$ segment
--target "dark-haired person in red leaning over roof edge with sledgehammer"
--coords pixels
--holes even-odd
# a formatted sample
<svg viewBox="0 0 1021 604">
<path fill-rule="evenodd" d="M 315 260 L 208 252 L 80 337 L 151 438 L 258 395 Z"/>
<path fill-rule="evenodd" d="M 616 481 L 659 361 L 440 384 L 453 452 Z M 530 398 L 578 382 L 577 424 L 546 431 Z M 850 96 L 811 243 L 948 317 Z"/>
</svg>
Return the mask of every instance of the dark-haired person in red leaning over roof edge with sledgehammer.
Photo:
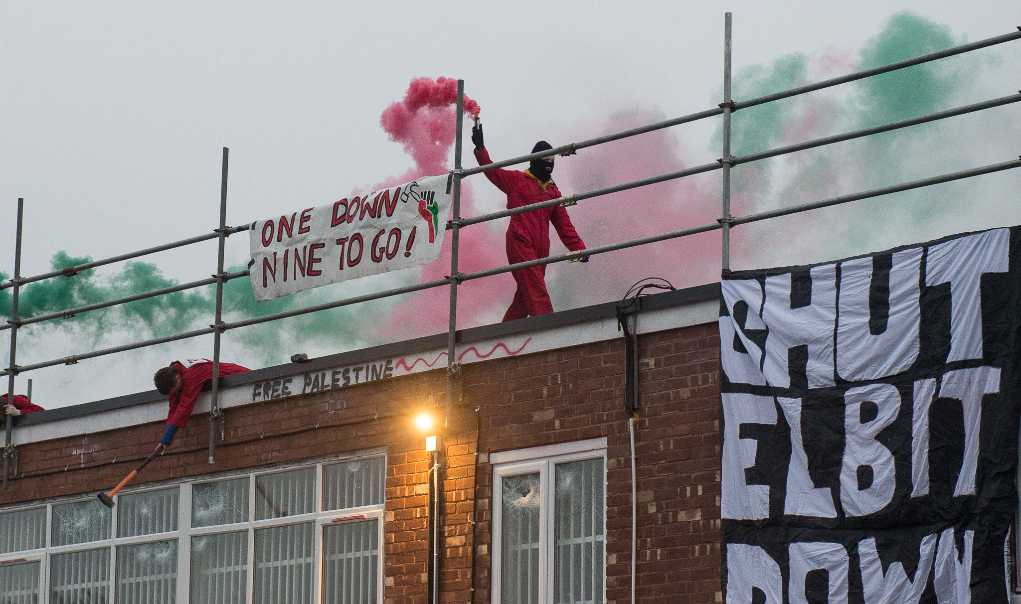
<svg viewBox="0 0 1021 604">
<path fill-rule="evenodd" d="M 220 374 L 230 375 L 250 371 L 247 367 L 234 363 L 220 363 Z M 188 425 L 192 409 L 198 395 L 212 382 L 212 361 L 209 359 L 186 359 L 174 361 L 165 367 L 160 367 L 152 376 L 159 394 L 167 396 L 169 410 L 166 413 L 166 431 L 159 440 L 157 450 L 171 446 L 178 430 Z"/>
</svg>

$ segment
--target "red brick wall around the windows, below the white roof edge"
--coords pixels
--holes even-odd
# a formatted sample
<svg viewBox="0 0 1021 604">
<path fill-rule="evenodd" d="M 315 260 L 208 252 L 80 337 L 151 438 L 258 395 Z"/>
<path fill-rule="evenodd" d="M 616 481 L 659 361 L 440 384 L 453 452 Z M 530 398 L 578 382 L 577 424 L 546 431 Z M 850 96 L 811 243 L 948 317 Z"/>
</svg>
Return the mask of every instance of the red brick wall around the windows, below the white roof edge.
<svg viewBox="0 0 1021 604">
<path fill-rule="evenodd" d="M 640 355 L 638 601 L 719 602 L 717 328 L 643 336 Z M 384 599 L 422 604 L 430 458 L 411 418 L 429 395 L 442 410 L 444 376 L 441 369 L 227 409 L 228 438 L 215 465 L 207 463 L 207 415 L 196 415 L 138 482 L 386 447 Z M 441 601 L 489 601 L 489 454 L 601 436 L 609 443 L 606 598 L 629 601 L 631 466 L 623 391 L 620 340 L 464 367 L 463 398 L 441 457 Z M 26 475 L 0 492 L 0 505 L 109 489 L 161 434 L 160 424 L 150 423 L 23 445 L 19 472 Z"/>
</svg>

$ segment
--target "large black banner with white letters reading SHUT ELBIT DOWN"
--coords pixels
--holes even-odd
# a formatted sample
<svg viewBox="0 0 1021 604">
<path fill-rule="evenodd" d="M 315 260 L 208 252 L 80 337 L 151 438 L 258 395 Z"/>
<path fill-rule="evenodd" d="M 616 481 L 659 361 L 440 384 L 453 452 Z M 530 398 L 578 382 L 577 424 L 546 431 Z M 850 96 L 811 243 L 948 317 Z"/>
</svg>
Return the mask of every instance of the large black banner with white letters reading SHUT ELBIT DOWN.
<svg viewBox="0 0 1021 604">
<path fill-rule="evenodd" d="M 722 290 L 725 601 L 1006 603 L 1021 228 Z"/>
</svg>

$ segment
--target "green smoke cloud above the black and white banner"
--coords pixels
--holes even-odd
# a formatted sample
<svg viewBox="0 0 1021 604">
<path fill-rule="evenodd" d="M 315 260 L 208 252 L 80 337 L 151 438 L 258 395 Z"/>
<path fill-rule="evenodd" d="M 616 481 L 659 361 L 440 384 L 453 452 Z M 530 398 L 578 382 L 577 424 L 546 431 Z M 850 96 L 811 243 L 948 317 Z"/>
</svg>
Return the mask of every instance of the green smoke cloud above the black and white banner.
<svg viewBox="0 0 1021 604">
<path fill-rule="evenodd" d="M 963 43 L 946 26 L 904 11 L 892 15 L 857 56 L 828 64 L 848 64 L 854 65 L 849 70 L 862 70 Z M 988 97 L 976 98 L 973 91 L 983 68 L 995 61 L 989 54 L 996 52 L 1001 51 L 957 55 L 742 109 L 732 119 L 732 152 L 753 153 L 984 100 Z M 743 68 L 734 78 L 733 96 L 744 100 L 803 85 L 810 72 L 816 81 L 848 70 L 826 72 L 826 64 L 817 62 L 816 57 L 791 54 Z M 821 73 L 817 76 L 817 71 Z M 970 124 L 964 125 L 968 119 L 981 117 L 950 118 L 738 165 L 732 178 L 734 213 L 786 207 L 985 163 L 972 159 L 975 153 L 960 147 L 975 138 L 967 131 Z M 1007 131 L 1011 123 L 1016 122 L 1008 119 L 1004 123 Z M 718 129 L 715 145 L 721 136 Z M 995 160 L 1004 159 L 1009 157 Z M 738 253 L 743 258 L 737 266 L 821 261 L 874 251 L 953 233 L 955 229 L 947 225 L 955 221 L 962 222 L 959 231 L 966 231 L 957 218 L 968 214 L 968 205 L 977 199 L 975 188 L 980 186 L 980 180 L 967 180 L 739 229 Z M 790 233 L 800 236 L 783 235 Z"/>
</svg>

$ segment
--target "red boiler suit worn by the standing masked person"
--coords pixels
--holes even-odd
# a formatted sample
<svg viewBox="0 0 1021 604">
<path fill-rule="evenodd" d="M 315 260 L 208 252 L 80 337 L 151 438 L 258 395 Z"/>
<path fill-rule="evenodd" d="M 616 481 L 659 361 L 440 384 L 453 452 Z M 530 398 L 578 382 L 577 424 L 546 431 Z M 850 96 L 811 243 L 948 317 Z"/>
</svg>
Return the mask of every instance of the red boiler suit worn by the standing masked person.
<svg viewBox="0 0 1021 604">
<path fill-rule="evenodd" d="M 492 163 L 489 152 L 485 149 L 476 150 L 475 158 L 479 161 L 479 165 Z M 555 183 L 551 180 L 539 183 L 538 179 L 528 171 L 497 168 L 485 174 L 490 183 L 506 194 L 507 209 L 562 197 Z M 557 205 L 510 216 L 506 235 L 507 260 L 515 264 L 548 256 L 550 222 L 569 250 L 575 252 L 585 249 L 585 242 L 575 232 L 568 211 Z M 513 270 L 510 273 L 518 284 L 518 291 L 515 292 L 514 301 L 503 315 L 503 320 L 548 314 L 553 311 L 553 304 L 546 292 L 545 264 Z"/>
</svg>

